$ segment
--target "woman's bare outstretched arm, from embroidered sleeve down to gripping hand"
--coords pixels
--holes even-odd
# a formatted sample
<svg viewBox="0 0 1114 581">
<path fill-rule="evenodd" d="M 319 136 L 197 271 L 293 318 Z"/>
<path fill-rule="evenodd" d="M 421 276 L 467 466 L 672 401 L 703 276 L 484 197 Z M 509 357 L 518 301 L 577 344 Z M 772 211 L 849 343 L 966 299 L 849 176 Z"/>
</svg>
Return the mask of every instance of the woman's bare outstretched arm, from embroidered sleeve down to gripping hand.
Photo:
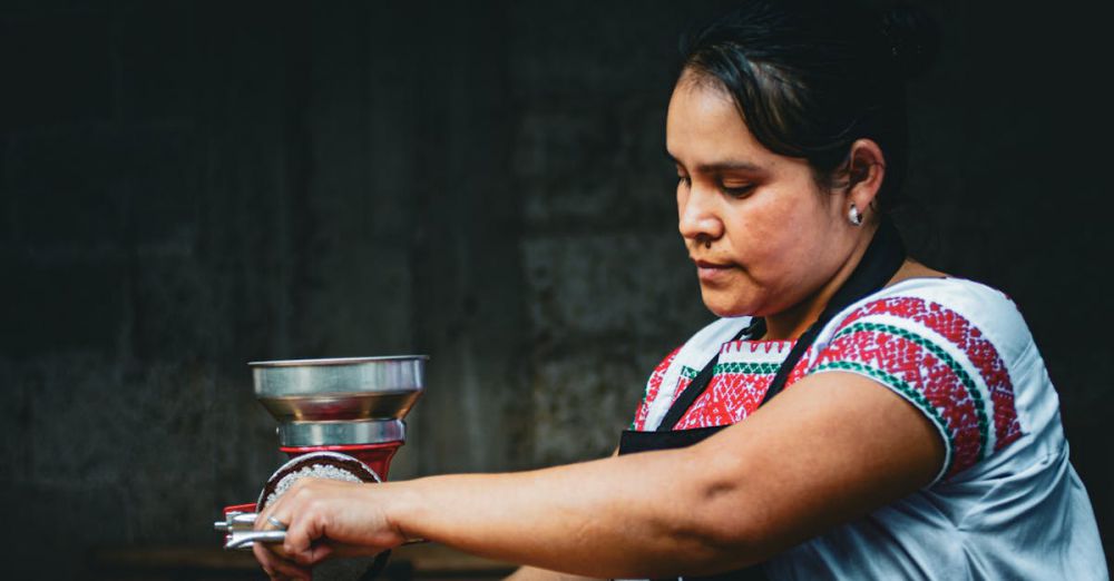
<svg viewBox="0 0 1114 581">
<path fill-rule="evenodd" d="M 322 536 L 379 548 L 420 536 L 592 577 L 702 574 L 907 495 L 942 459 L 911 405 L 864 377 L 825 373 L 687 450 L 378 485 L 309 481 L 273 511 L 291 523 L 284 550 L 302 563 L 330 553 L 314 549 Z"/>
</svg>

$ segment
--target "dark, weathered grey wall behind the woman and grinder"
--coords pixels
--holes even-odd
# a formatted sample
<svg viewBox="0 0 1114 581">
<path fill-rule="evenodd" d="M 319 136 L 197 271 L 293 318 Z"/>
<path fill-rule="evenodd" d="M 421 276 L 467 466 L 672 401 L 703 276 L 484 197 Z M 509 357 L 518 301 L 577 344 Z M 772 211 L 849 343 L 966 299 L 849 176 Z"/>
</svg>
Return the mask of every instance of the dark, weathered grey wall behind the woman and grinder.
<svg viewBox="0 0 1114 581">
<path fill-rule="evenodd" d="M 247 361 L 429 353 L 392 477 L 610 451 L 711 318 L 664 109 L 729 4 L 0 2 L 6 567 L 218 543 L 281 461 Z M 1110 538 L 1104 20 L 925 6 L 900 223 L 1020 306 Z"/>
</svg>

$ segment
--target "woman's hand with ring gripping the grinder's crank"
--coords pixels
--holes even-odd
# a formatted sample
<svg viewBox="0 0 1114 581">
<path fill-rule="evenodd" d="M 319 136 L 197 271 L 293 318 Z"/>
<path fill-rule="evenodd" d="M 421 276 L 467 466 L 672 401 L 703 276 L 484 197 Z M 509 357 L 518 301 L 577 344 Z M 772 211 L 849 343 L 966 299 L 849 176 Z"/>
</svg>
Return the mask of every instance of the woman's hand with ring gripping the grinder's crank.
<svg viewBox="0 0 1114 581">
<path fill-rule="evenodd" d="M 273 579 L 310 579 L 310 568 L 330 557 L 371 555 L 405 536 L 387 519 L 383 484 L 305 477 L 260 513 L 256 530 L 286 524 L 282 544 L 255 543 L 253 552 Z"/>
</svg>

